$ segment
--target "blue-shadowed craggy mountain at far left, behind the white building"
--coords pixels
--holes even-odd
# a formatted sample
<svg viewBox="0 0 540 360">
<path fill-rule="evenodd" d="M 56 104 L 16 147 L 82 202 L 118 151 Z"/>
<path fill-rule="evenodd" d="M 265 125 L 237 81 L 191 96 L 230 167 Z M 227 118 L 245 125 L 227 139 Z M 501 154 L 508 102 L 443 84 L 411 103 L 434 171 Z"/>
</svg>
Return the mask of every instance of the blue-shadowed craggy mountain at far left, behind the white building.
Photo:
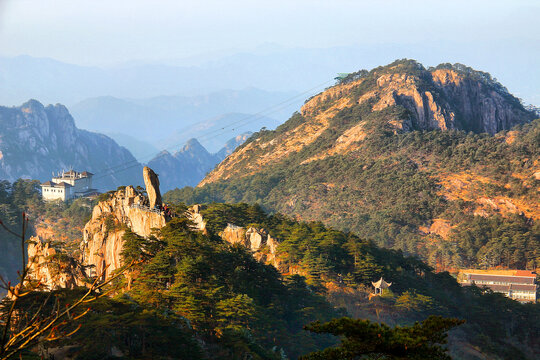
<svg viewBox="0 0 540 360">
<path fill-rule="evenodd" d="M 119 165 L 129 164 L 122 171 Z M 110 190 L 142 184 L 131 153 L 111 138 L 80 130 L 63 105 L 30 100 L 19 107 L 0 106 L 0 178 L 50 180 L 52 172 L 70 167 L 96 174 L 93 186 Z"/>
</svg>

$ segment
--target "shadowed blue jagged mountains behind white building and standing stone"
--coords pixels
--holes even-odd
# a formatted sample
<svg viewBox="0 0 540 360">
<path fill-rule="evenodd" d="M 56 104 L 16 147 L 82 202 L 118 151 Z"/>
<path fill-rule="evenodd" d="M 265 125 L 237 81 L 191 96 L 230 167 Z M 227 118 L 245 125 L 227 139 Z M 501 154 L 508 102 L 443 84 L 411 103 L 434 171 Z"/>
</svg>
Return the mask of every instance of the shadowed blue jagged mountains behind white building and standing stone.
<svg viewBox="0 0 540 360">
<path fill-rule="evenodd" d="M 247 132 L 229 139 L 213 154 L 191 139 L 174 155 L 162 151 L 148 165 L 161 175 L 164 190 L 195 186 L 250 135 Z M 158 152 L 135 138 L 114 137 L 144 148 L 146 155 Z M 93 186 L 100 191 L 142 184 L 142 165 L 129 150 L 108 136 L 78 129 L 65 106 L 43 106 L 30 100 L 18 107 L 0 107 L 0 180 L 43 182 L 50 180 L 53 172 L 70 168 L 94 173 Z"/>
</svg>

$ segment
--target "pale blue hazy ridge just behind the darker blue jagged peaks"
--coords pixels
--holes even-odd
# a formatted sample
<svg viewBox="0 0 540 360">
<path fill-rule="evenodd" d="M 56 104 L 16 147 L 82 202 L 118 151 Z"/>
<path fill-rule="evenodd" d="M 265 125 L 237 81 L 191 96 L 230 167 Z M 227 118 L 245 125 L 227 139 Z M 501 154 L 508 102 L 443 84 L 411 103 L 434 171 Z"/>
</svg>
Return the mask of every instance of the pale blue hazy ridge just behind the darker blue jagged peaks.
<svg viewBox="0 0 540 360">
<path fill-rule="evenodd" d="M 258 131 L 261 127 L 274 128 L 285 121 L 300 106 L 303 97 L 294 92 L 270 92 L 249 88 L 240 91 L 224 90 L 201 96 L 159 96 L 146 99 L 120 99 L 111 96 L 86 99 L 70 107 L 77 126 L 91 131 L 125 134 L 145 141 L 159 149 L 178 145 L 191 137 L 199 138 L 207 130 L 225 128 L 222 142 L 205 143 L 217 151 L 231 137 L 245 131 Z M 282 105 L 285 103 L 286 106 Z M 279 105 L 279 106 L 275 106 Z M 239 132 L 229 126 L 240 117 L 249 117 L 262 110 L 268 116 L 244 121 Z M 239 114 L 229 116 L 226 114 Z M 278 119 L 278 120 L 274 120 Z M 279 120 L 281 119 L 281 121 Z M 255 120 L 255 121 L 254 121 Z M 233 124 L 234 125 L 234 124 Z M 174 142 L 161 143 L 173 132 Z M 166 145 L 166 146 L 165 146 Z"/>
</svg>

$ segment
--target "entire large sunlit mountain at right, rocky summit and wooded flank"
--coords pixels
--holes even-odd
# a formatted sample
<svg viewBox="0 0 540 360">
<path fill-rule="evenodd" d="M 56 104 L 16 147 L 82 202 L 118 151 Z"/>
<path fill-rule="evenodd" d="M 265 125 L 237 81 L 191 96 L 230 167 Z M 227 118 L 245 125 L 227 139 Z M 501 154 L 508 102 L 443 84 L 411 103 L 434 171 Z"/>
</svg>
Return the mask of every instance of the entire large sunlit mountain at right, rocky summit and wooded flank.
<svg viewBox="0 0 540 360">
<path fill-rule="evenodd" d="M 185 203 L 259 203 L 438 269 L 540 264 L 540 120 L 489 74 L 397 61 L 252 136 Z"/>
</svg>

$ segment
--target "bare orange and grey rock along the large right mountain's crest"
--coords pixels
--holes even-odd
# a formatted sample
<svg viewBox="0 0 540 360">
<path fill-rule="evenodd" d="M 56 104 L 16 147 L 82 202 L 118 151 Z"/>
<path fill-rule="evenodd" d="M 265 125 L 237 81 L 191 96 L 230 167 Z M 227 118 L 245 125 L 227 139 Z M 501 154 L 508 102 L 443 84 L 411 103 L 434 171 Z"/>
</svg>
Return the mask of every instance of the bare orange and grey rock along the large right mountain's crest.
<svg viewBox="0 0 540 360">
<path fill-rule="evenodd" d="M 476 76 L 478 79 L 472 78 L 472 76 Z M 445 98 L 462 97 L 466 99 L 465 92 L 457 96 L 454 94 L 460 84 L 470 87 L 466 93 L 475 95 L 476 103 L 463 100 L 462 106 L 453 109 Z M 484 106 L 482 101 L 491 100 L 490 97 L 485 96 L 486 92 L 489 92 L 495 100 Z M 480 115 L 487 116 L 486 119 L 478 118 L 479 114 L 477 113 L 471 113 L 476 108 L 475 105 L 485 108 L 485 112 L 480 111 Z M 433 129 L 478 131 L 482 129 L 494 134 L 534 118 L 531 112 L 526 111 L 519 104 L 518 99 L 510 95 L 487 73 L 473 71 L 460 64 L 456 65 L 456 69 L 453 69 L 449 64 L 442 64 L 439 65 L 439 68 L 426 70 L 413 60 L 400 60 L 386 67 L 375 68 L 370 72 L 362 70 L 350 74 L 337 85 L 313 96 L 302 106 L 300 114 L 291 118 L 293 121 L 300 122 L 298 127 L 291 129 L 288 133 L 286 132 L 287 127 L 283 126 L 282 130 L 285 131 L 275 132 L 274 134 L 278 134 L 278 137 L 270 138 L 270 141 L 263 144 L 254 143 L 254 141 L 260 141 L 261 136 L 254 137 L 253 141 L 241 147 L 233 157 L 228 159 L 228 162 L 221 164 L 209 174 L 200 183 L 200 186 L 216 181 L 222 176 L 226 179 L 233 174 L 240 176 L 248 174 L 249 172 L 245 172 L 244 169 L 240 172 L 232 172 L 229 163 L 246 161 L 246 159 L 234 160 L 234 158 L 240 158 L 242 152 L 249 152 L 250 149 L 273 148 L 271 155 L 266 150 L 265 155 L 261 158 L 251 158 L 248 161 L 250 167 L 254 167 L 253 162 L 258 163 L 258 168 L 274 162 L 273 159 L 279 160 L 281 157 L 298 152 L 330 128 L 330 118 L 346 109 L 351 110 L 348 116 L 354 117 L 358 116 L 357 113 L 363 112 L 369 115 L 372 112 L 390 111 L 397 108 L 405 109 L 407 113 L 389 114 L 392 119 L 388 120 L 388 124 L 395 132 Z M 514 114 L 514 110 L 518 113 Z M 352 111 L 356 111 L 356 113 L 352 113 Z M 469 115 L 472 115 L 473 118 L 476 116 L 477 122 L 467 123 L 464 118 Z M 352 121 L 354 123 L 354 120 Z M 364 126 L 359 122 L 356 127 L 349 127 L 349 133 L 344 132 L 342 137 L 336 139 L 334 150 L 338 153 L 348 152 L 348 145 L 362 141 L 365 134 Z M 271 134 L 268 133 L 266 137 L 268 138 Z M 225 173 L 226 175 L 224 175 Z"/>
</svg>

